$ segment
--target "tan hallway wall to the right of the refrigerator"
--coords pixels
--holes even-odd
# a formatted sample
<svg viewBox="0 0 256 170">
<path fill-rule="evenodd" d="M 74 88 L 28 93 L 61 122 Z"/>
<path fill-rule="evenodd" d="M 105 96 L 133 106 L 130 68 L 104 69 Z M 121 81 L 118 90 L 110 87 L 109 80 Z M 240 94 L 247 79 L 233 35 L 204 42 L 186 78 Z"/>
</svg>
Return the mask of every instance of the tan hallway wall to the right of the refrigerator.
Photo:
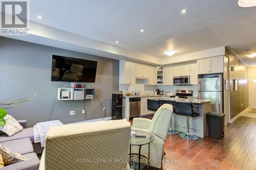
<svg viewBox="0 0 256 170">
<path fill-rule="evenodd" d="M 229 58 L 230 119 L 232 119 L 249 107 L 248 69 L 235 55 L 227 50 L 227 48 L 225 53 Z M 234 67 L 234 71 L 231 71 L 231 66 Z M 234 79 L 239 80 L 238 91 L 234 91 Z"/>
</svg>

